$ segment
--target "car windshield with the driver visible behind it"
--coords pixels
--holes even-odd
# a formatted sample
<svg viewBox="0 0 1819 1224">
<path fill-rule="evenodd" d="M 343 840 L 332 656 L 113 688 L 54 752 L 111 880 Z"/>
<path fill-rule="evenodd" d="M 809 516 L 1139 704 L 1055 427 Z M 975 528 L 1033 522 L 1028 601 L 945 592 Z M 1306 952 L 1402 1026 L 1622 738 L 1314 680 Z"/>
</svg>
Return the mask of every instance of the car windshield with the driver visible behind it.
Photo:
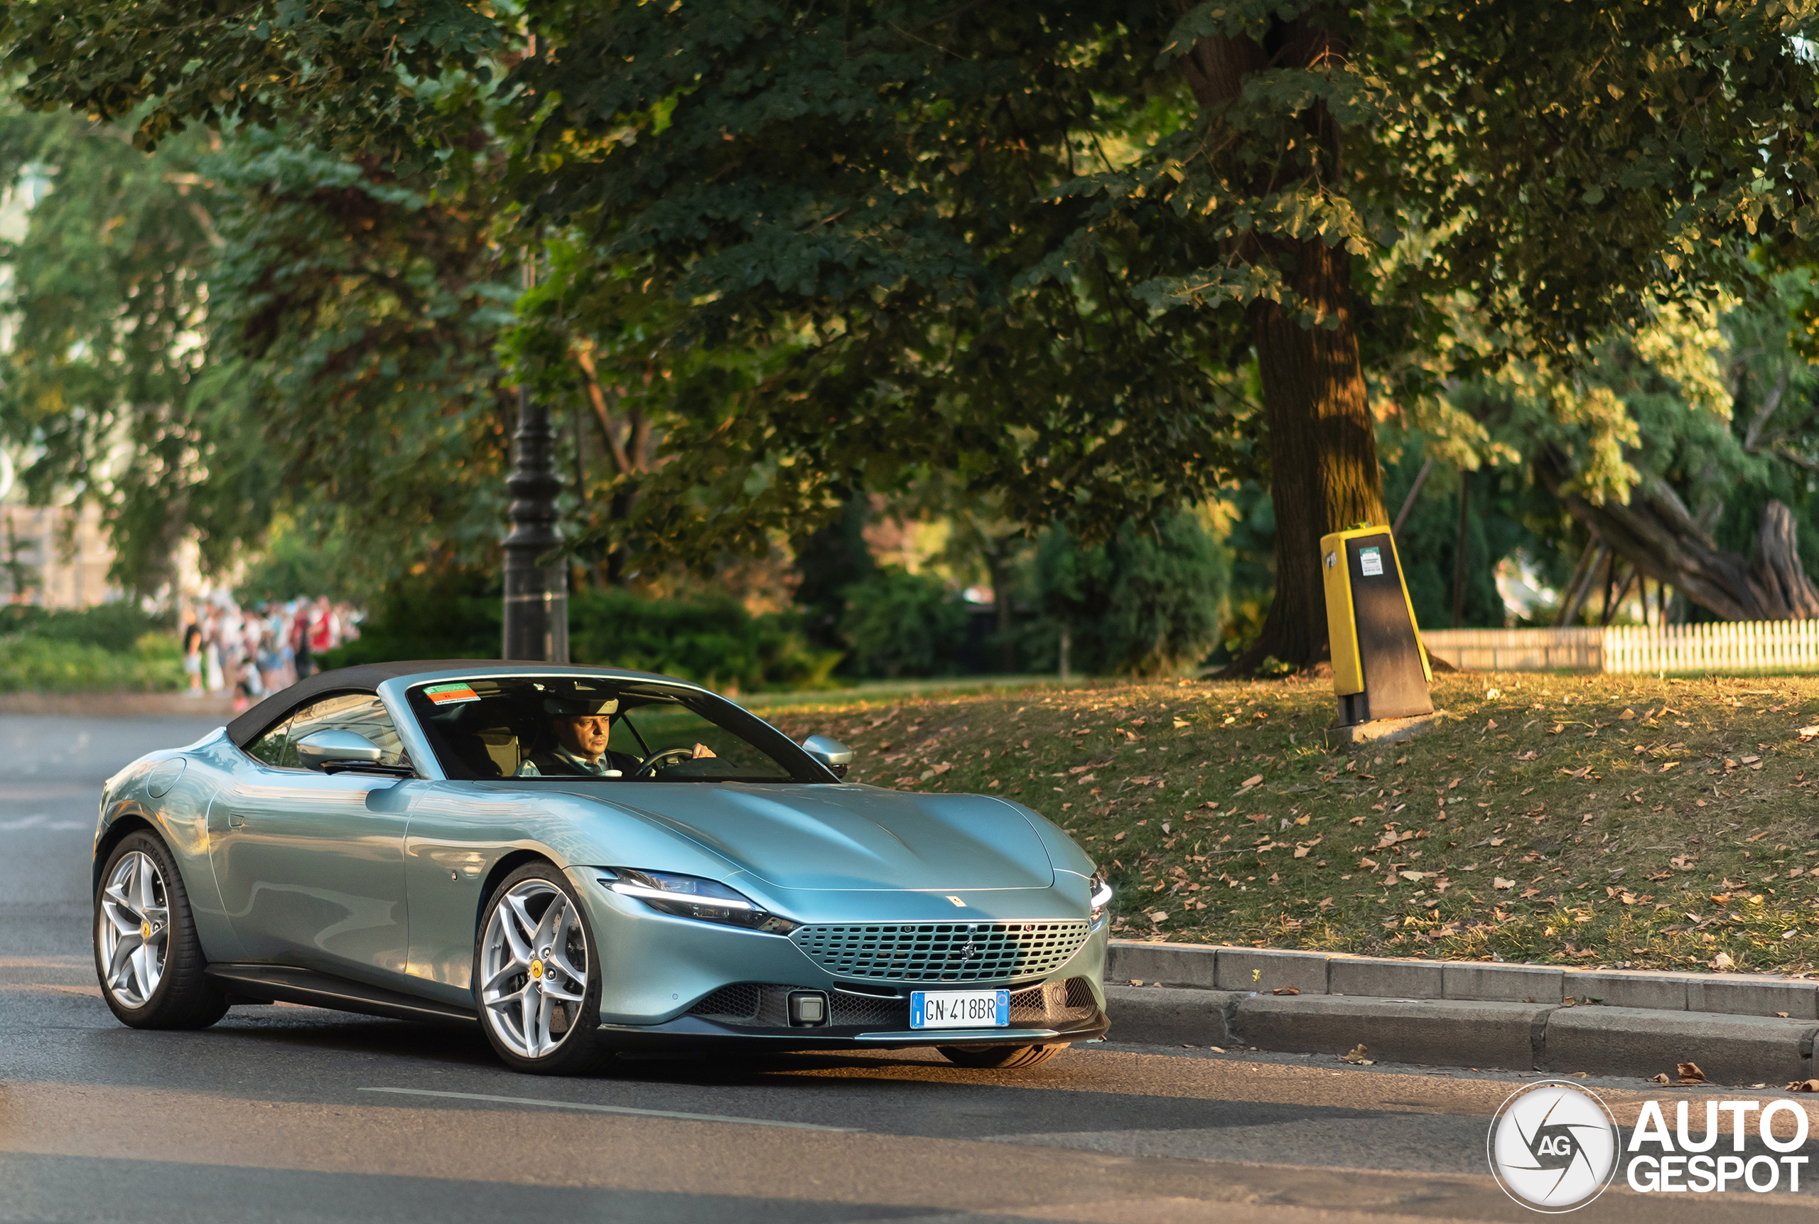
<svg viewBox="0 0 1819 1224">
<path fill-rule="evenodd" d="M 611 677 L 487 677 L 409 689 L 451 778 L 826 782 L 780 731 L 695 689 Z"/>
</svg>

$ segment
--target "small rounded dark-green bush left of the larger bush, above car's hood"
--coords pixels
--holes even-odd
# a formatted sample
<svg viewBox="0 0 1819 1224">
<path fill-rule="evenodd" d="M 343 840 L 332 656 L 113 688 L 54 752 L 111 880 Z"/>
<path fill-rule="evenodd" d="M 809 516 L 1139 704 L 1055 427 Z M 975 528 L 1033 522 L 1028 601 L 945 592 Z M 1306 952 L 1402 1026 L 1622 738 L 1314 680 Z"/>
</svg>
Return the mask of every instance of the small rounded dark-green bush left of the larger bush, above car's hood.
<svg viewBox="0 0 1819 1224">
<path fill-rule="evenodd" d="M 960 669 L 968 613 L 940 578 L 895 566 L 842 593 L 840 637 L 849 671 L 862 677 L 933 677 Z"/>
</svg>

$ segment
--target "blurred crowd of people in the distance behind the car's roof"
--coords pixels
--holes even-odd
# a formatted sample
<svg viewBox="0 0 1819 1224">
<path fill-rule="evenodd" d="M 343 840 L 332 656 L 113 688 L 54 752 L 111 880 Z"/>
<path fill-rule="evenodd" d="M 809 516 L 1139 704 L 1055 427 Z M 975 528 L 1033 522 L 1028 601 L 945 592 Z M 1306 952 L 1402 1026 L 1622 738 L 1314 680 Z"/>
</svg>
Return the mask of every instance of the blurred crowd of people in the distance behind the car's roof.
<svg viewBox="0 0 1819 1224">
<path fill-rule="evenodd" d="M 189 695 L 233 693 L 235 713 L 320 669 L 322 655 L 360 637 L 360 615 L 326 595 L 242 609 L 216 593 L 182 613 Z"/>
</svg>

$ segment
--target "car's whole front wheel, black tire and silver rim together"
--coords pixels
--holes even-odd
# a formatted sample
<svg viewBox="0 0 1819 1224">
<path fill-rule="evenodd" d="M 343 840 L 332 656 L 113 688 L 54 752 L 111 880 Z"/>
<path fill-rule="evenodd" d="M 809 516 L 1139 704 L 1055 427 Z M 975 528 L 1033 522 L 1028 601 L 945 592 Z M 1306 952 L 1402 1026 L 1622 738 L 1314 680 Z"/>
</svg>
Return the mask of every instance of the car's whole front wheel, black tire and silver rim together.
<svg viewBox="0 0 1819 1224">
<path fill-rule="evenodd" d="M 480 1028 L 529 1075 L 586 1075 L 609 1057 L 597 1037 L 600 957 L 568 877 L 548 862 L 493 889 L 473 949 Z"/>
</svg>

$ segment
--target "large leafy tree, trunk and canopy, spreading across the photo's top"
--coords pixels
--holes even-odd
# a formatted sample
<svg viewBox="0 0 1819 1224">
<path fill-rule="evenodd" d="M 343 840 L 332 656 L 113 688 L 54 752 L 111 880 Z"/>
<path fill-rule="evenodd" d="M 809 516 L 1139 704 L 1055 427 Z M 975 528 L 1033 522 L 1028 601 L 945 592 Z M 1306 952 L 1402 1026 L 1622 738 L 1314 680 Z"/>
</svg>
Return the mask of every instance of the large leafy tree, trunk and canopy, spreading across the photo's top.
<svg viewBox="0 0 1819 1224">
<path fill-rule="evenodd" d="M 322 207 L 318 175 L 384 196 L 397 251 L 435 215 L 431 246 L 478 262 L 449 256 L 466 271 L 395 318 L 478 320 L 506 295 L 464 286 L 540 251 L 502 331 L 509 376 L 598 416 L 602 549 L 759 547 L 933 471 L 1028 527 L 1108 538 L 1261 478 L 1277 586 L 1251 662 L 1301 664 L 1324 647 L 1319 535 L 1388 518 L 1379 418 L 1468 467 L 1539 464 L 1563 497 L 1623 504 L 1637 400 L 1599 415 L 1613 396 L 1586 371 L 1713 295 L 1764 300 L 1752 251 L 1806 258 L 1815 13 L 369 0 L 196 20 L 76 0 L 13 5 L 0 44 L 27 105 L 140 147 L 196 127 L 240 158 L 275 140 L 246 164 L 296 167 L 298 207 Z M 255 220 L 289 198 L 235 191 Z M 349 231 L 315 231 L 304 264 L 331 235 Z M 386 293 L 409 280 L 393 276 Z M 340 353 L 313 300 L 329 298 L 286 298 L 264 333 L 236 315 L 242 336 Z M 373 324 L 344 364 L 260 386 L 344 446 L 371 420 L 395 446 L 497 438 L 446 406 L 497 393 L 464 364 L 478 333 L 438 324 L 426 349 L 420 327 Z M 429 364 L 400 380 L 395 353 Z M 1481 393 L 1523 371 L 1548 391 Z M 444 396 L 457 424 L 397 409 L 400 389 Z M 1492 402 L 1550 427 L 1493 438 Z M 648 456 L 631 409 L 660 422 Z M 1588 420 L 1603 449 L 1557 444 Z"/>
</svg>

